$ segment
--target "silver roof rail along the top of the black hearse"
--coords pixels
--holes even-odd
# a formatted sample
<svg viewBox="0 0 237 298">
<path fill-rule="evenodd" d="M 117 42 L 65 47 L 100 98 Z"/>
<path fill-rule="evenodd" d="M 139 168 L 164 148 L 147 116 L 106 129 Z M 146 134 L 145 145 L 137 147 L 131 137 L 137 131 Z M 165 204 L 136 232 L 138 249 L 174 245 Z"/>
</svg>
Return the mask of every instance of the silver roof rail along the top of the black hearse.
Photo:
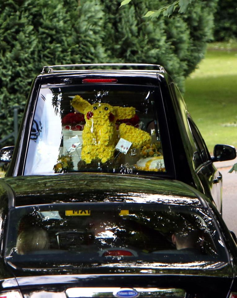
<svg viewBox="0 0 237 298">
<path fill-rule="evenodd" d="M 53 73 L 53 72 L 69 72 L 69 71 L 98 71 L 99 69 L 68 69 L 69 67 L 74 68 L 86 68 L 86 67 L 97 67 L 97 66 L 120 66 L 120 67 L 143 67 L 143 69 L 123 69 L 123 71 L 159 71 L 159 72 L 165 72 L 163 66 L 159 64 L 147 64 L 147 63 L 87 63 L 87 64 L 62 64 L 62 65 L 49 65 L 49 66 L 43 66 L 42 74 L 43 73 Z M 152 67 L 153 69 L 148 70 L 146 68 Z M 56 70 L 55 68 L 66 68 L 66 69 L 60 69 Z M 155 68 L 155 69 L 154 69 Z M 48 71 L 47 71 L 48 70 Z M 101 69 L 101 70 L 112 70 L 112 69 Z"/>
</svg>

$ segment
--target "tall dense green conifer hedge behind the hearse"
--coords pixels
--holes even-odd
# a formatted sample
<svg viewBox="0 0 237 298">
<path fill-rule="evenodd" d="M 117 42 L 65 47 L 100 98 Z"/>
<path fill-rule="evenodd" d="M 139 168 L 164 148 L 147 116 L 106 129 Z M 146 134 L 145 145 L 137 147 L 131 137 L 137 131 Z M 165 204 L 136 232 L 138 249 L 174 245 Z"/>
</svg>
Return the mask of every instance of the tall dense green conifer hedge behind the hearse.
<svg viewBox="0 0 237 298">
<path fill-rule="evenodd" d="M 196 0 L 186 14 L 144 18 L 164 0 L 2 0 L 0 2 L 0 139 L 13 131 L 43 65 L 137 62 L 162 64 L 183 89 L 212 38 L 217 0 Z M 0 113 L 1 114 L 1 113 Z M 9 141 L 12 144 L 13 140 Z"/>
</svg>

